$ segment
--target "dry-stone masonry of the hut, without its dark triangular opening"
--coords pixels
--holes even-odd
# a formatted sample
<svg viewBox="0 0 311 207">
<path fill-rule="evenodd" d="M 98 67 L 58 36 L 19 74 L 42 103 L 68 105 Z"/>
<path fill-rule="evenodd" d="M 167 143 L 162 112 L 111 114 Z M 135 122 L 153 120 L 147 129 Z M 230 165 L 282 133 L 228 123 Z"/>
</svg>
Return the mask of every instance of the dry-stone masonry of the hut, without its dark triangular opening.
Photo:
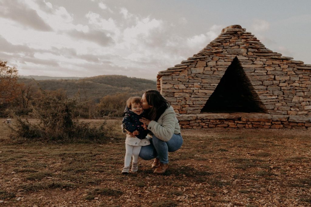
<svg viewBox="0 0 311 207">
<path fill-rule="evenodd" d="M 240 25 L 231 25 L 193 57 L 160 71 L 157 89 L 181 115 L 182 127 L 310 127 L 311 65 L 292 59 L 267 49 Z M 277 116 L 268 121 L 247 121 L 243 116 L 238 119 L 202 117 L 202 108 L 234 62 L 243 68 L 266 114 L 283 115 L 280 119 Z M 190 115 L 196 117 L 190 119 Z"/>
</svg>

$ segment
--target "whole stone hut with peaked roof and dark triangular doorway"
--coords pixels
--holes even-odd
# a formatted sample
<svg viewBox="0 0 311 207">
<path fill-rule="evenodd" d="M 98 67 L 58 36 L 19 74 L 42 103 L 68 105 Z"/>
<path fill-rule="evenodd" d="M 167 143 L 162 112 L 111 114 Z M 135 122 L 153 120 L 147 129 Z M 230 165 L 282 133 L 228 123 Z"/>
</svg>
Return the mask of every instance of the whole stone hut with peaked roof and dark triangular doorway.
<svg viewBox="0 0 311 207">
<path fill-rule="evenodd" d="M 240 25 L 160 71 L 182 128 L 311 128 L 311 65 L 267 49 Z"/>
</svg>

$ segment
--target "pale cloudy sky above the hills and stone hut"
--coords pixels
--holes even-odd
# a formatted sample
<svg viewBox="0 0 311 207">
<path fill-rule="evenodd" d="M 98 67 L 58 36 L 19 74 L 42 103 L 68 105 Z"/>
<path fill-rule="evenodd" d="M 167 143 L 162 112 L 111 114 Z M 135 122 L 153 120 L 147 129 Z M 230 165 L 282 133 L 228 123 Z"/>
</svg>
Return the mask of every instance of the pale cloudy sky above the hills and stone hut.
<svg viewBox="0 0 311 207">
<path fill-rule="evenodd" d="M 0 59 L 20 75 L 156 79 L 239 24 L 311 64 L 309 0 L 0 0 Z"/>
</svg>

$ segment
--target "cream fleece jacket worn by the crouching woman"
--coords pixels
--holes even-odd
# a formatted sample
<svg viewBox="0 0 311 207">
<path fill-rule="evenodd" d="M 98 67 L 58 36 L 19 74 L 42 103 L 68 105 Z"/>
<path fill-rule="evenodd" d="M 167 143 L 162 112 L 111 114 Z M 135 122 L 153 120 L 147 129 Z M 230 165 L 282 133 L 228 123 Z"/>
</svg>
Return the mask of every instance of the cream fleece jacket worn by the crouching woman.
<svg viewBox="0 0 311 207">
<path fill-rule="evenodd" d="M 164 142 L 169 141 L 173 134 L 180 134 L 180 126 L 173 107 L 167 108 L 158 121 L 151 121 L 148 129 Z"/>
</svg>

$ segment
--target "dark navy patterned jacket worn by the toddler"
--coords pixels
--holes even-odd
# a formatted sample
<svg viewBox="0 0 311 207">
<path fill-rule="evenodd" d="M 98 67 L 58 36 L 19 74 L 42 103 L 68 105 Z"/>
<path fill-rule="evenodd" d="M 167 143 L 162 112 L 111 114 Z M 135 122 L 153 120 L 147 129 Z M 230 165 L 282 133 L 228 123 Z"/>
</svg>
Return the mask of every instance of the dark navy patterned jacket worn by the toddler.
<svg viewBox="0 0 311 207">
<path fill-rule="evenodd" d="M 127 106 L 125 107 L 125 110 L 124 110 L 124 114 L 123 114 L 124 117 L 122 120 L 123 127 L 129 132 L 134 132 L 137 130 L 139 132 L 139 134 L 136 135 L 138 139 L 144 139 L 147 136 L 148 131 L 149 131 L 149 130 L 145 130 L 142 127 L 143 123 L 139 121 L 139 119 L 142 117 L 146 118 L 145 114 L 146 114 L 145 111 L 143 111 L 140 115 L 137 115 L 131 110 L 129 110 Z"/>
</svg>

